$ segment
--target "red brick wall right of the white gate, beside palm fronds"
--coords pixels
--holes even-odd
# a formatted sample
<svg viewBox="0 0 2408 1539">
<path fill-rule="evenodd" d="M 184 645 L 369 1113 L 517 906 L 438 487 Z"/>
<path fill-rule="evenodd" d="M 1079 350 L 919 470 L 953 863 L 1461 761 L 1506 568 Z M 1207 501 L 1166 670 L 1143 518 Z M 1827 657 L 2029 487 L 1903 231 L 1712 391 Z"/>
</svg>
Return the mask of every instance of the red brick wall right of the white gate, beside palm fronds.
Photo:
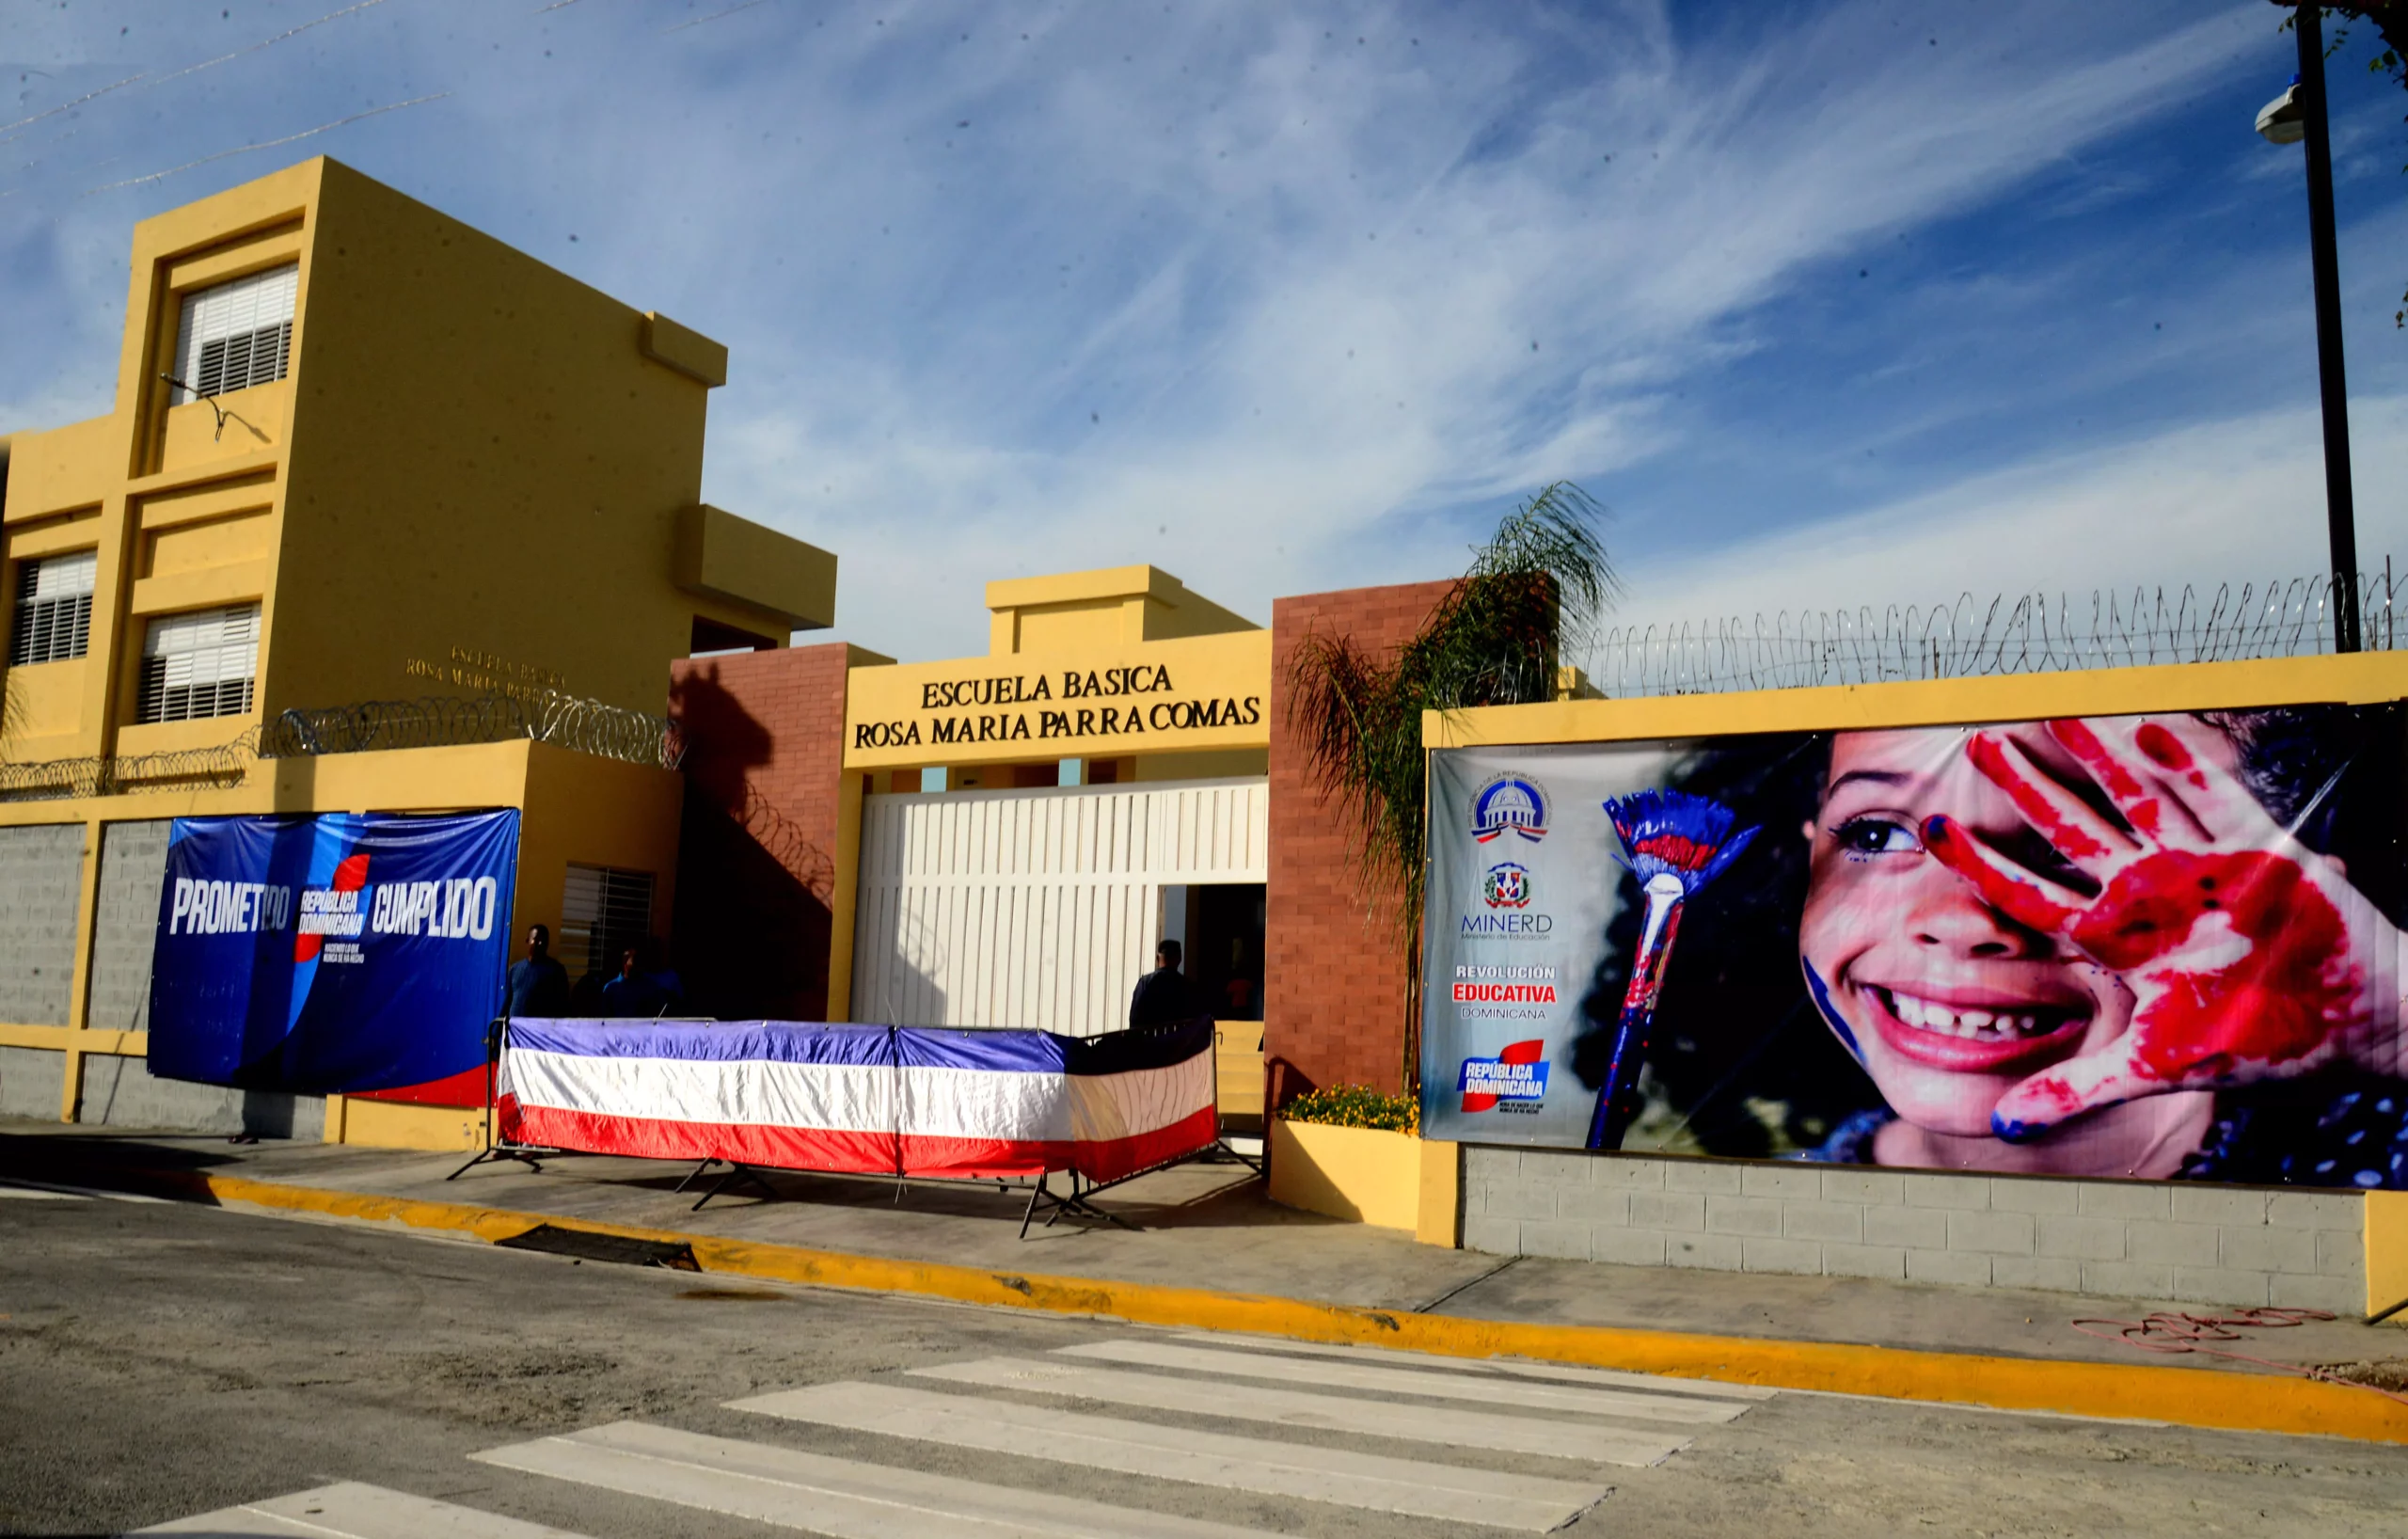
<svg viewBox="0 0 2408 1539">
<path fill-rule="evenodd" d="M 1365 913 L 1353 831 L 1332 816 L 1288 737 L 1288 658 L 1305 636 L 1353 636 L 1387 658 L 1452 583 L 1348 588 L 1271 602 L 1271 884 L 1262 1050 L 1271 1101 L 1329 1084 L 1404 1089 L 1404 949 L 1389 908 Z"/>
</svg>

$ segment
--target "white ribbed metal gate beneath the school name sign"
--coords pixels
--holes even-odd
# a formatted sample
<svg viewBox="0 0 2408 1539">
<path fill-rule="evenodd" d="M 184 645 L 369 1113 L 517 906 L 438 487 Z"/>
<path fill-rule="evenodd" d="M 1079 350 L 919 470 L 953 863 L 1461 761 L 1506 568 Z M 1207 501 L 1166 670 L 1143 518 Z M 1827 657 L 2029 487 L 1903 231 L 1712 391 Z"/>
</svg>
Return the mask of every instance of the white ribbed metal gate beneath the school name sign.
<svg viewBox="0 0 2408 1539">
<path fill-rule="evenodd" d="M 869 797 L 852 1019 L 1115 1031 L 1163 886 L 1264 881 L 1269 862 L 1259 776 Z"/>
</svg>

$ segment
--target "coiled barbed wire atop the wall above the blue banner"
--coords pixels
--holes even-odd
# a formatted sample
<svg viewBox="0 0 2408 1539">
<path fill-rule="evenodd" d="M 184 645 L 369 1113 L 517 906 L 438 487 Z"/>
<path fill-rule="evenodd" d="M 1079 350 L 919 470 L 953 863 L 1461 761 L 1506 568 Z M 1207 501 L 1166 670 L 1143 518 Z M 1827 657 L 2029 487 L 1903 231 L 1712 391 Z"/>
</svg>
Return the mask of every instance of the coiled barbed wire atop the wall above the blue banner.
<svg viewBox="0 0 2408 1539">
<path fill-rule="evenodd" d="M 672 771 L 686 759 L 686 735 L 665 715 L 563 694 L 424 696 L 282 710 L 241 737 L 205 749 L 0 763 L 0 802 L 219 790 L 241 785 L 262 759 L 441 749 L 518 737 Z"/>
</svg>

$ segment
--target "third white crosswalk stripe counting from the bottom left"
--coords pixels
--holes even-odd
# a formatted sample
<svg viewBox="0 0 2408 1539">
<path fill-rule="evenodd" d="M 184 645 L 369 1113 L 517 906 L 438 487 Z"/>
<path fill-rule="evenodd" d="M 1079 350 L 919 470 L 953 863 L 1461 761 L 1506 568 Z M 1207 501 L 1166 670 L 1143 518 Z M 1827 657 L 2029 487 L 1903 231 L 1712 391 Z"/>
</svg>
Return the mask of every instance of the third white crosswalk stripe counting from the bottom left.
<svg viewBox="0 0 2408 1539">
<path fill-rule="evenodd" d="M 1558 1529 L 1606 1498 L 1606 1486 L 1594 1484 L 1389 1460 L 1312 1443 L 1233 1438 L 1151 1421 L 1112 1421 L 903 1385 L 811 1385 L 809 1390 L 737 1399 L 730 1402 L 730 1409 L 1197 1486 L 1486 1522 L 1534 1534 Z"/>
</svg>

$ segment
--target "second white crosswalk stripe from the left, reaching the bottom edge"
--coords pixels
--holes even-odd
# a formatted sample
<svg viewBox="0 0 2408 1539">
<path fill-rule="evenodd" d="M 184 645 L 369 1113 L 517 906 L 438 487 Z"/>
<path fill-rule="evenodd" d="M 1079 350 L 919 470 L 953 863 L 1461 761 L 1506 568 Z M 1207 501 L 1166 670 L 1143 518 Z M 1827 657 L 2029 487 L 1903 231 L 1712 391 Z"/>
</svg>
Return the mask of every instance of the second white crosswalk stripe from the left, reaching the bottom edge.
<svg viewBox="0 0 2408 1539">
<path fill-rule="evenodd" d="M 831 1539 L 1259 1539 L 1255 1529 L 1173 1513 L 980 1486 L 641 1421 L 470 1457 Z"/>
</svg>

